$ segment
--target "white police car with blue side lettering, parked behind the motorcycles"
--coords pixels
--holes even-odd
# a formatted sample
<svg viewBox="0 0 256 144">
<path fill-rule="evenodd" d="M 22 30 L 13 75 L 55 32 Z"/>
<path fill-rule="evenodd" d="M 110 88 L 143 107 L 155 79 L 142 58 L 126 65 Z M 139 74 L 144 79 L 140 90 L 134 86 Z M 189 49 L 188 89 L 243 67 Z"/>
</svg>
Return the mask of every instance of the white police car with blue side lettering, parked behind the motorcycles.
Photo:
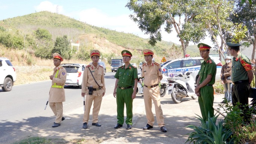
<svg viewBox="0 0 256 144">
<path fill-rule="evenodd" d="M 221 61 L 219 61 L 218 57 L 210 56 L 210 58 L 215 62 L 217 66 L 215 81 L 221 80 Z M 189 71 L 192 72 L 191 75 L 195 80 L 203 61 L 204 59 L 201 57 L 190 58 L 189 56 L 187 56 L 187 58 L 175 59 L 162 65 L 162 73 L 168 77 L 175 77 L 183 71 Z"/>
</svg>

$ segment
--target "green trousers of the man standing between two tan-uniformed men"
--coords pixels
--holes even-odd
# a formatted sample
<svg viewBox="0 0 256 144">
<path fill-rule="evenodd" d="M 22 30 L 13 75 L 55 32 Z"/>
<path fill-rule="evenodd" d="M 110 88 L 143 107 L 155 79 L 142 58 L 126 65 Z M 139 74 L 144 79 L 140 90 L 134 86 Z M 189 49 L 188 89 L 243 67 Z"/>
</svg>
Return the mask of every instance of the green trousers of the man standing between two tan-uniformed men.
<svg viewBox="0 0 256 144">
<path fill-rule="evenodd" d="M 128 89 L 116 89 L 116 104 L 117 104 L 117 123 L 123 124 L 124 122 L 124 107 L 126 106 L 126 124 L 133 124 L 133 87 Z"/>
</svg>

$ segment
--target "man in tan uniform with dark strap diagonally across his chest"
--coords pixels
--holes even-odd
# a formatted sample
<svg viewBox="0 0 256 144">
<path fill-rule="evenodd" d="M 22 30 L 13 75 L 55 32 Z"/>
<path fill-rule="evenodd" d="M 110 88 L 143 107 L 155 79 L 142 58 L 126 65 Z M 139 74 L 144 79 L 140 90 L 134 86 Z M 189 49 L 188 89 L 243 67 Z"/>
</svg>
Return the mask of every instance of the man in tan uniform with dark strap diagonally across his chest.
<svg viewBox="0 0 256 144">
<path fill-rule="evenodd" d="M 92 125 L 100 127 L 98 123 L 98 114 L 101 108 L 102 97 L 105 95 L 106 87 L 104 80 L 104 68 L 98 65 L 99 57 L 101 53 L 98 50 L 92 50 L 90 53 L 91 60 L 93 61 L 90 65 L 87 65 L 84 69 L 82 79 L 82 97 L 86 96 L 85 99 L 85 111 L 83 118 L 83 128 L 87 129 L 87 124 L 90 116 L 90 109 L 93 103 L 93 120 Z M 93 78 L 94 77 L 94 78 Z M 95 80 L 94 80 L 95 79 Z M 89 89 L 92 89 L 90 95 Z M 94 101 L 94 102 L 93 102 Z"/>
</svg>

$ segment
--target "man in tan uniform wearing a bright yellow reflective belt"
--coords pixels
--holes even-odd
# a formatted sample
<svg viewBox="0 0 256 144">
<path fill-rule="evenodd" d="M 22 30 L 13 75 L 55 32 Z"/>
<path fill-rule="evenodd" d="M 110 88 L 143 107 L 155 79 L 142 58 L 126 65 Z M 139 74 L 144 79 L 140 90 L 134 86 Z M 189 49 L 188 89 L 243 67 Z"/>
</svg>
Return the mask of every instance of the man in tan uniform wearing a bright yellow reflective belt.
<svg viewBox="0 0 256 144">
<path fill-rule="evenodd" d="M 52 86 L 49 92 L 49 105 L 55 115 L 55 122 L 52 127 L 58 127 L 61 125 L 61 121 L 65 120 L 63 117 L 63 105 L 65 102 L 65 90 L 64 85 L 66 82 L 67 71 L 61 66 L 63 58 L 58 53 L 53 54 L 53 74 L 50 76 L 52 80 Z"/>
</svg>

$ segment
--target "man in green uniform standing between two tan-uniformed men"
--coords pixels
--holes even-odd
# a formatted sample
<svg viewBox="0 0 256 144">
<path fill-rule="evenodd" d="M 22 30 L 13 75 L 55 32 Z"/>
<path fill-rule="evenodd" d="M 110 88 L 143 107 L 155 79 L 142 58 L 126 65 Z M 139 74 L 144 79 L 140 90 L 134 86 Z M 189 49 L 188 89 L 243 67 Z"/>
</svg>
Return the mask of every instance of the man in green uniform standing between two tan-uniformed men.
<svg viewBox="0 0 256 144">
<path fill-rule="evenodd" d="M 116 83 L 113 96 L 116 98 L 117 104 L 117 124 L 115 129 L 123 126 L 124 123 L 124 105 L 126 106 L 126 129 L 131 129 L 133 124 L 133 99 L 136 97 L 136 89 L 138 84 L 137 68 L 130 64 L 133 56 L 128 50 L 121 52 L 125 65 L 118 68 L 115 74 Z"/>
</svg>

